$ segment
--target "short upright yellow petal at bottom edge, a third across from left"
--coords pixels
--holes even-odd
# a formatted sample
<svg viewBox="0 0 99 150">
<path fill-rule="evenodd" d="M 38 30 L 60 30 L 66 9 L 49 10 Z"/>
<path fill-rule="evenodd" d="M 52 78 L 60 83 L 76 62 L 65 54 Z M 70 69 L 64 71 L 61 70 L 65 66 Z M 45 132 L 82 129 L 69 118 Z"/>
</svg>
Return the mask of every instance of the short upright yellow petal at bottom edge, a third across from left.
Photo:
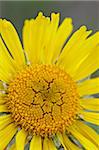
<svg viewBox="0 0 99 150">
<path fill-rule="evenodd" d="M 30 150 L 42 150 L 42 140 L 40 136 L 33 136 L 30 143 Z"/>
</svg>

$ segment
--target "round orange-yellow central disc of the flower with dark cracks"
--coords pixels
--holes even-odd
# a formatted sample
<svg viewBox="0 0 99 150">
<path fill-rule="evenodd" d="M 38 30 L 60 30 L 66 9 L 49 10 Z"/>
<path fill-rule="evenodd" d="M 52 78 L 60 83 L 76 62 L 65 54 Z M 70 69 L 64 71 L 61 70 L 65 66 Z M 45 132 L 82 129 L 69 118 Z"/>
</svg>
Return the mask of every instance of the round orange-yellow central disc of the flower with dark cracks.
<svg viewBox="0 0 99 150">
<path fill-rule="evenodd" d="M 51 65 L 27 66 L 9 84 L 6 99 L 17 125 L 41 136 L 64 132 L 79 109 L 76 84 Z"/>
</svg>

